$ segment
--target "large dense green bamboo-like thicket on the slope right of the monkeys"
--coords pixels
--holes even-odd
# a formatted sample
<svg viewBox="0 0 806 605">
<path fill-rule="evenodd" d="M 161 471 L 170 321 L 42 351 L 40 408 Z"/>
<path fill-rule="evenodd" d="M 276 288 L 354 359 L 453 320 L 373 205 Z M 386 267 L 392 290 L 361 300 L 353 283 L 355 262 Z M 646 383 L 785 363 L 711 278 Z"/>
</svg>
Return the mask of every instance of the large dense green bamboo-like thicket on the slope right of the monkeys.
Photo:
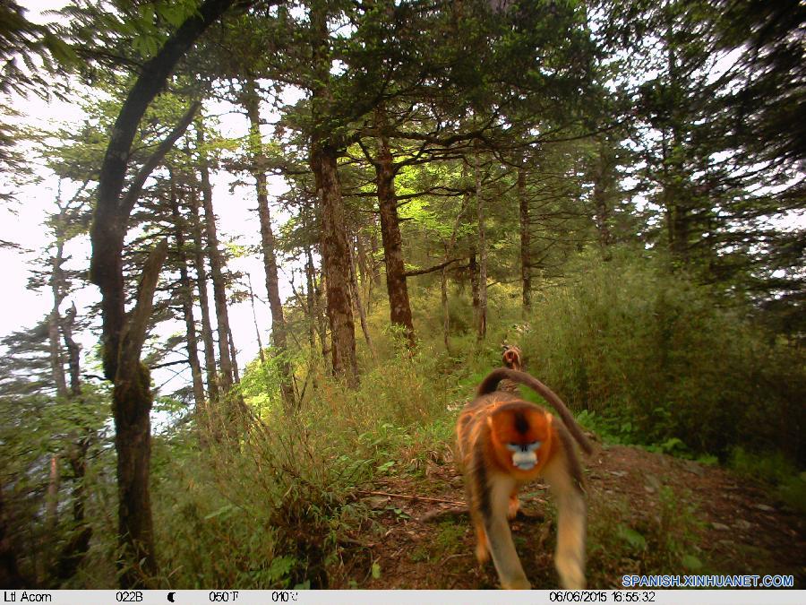
<svg viewBox="0 0 806 605">
<path fill-rule="evenodd" d="M 639 444 L 723 459 L 735 444 L 804 460 L 802 354 L 771 341 L 662 260 L 580 257 L 537 293 L 522 347 L 587 423 Z"/>
</svg>

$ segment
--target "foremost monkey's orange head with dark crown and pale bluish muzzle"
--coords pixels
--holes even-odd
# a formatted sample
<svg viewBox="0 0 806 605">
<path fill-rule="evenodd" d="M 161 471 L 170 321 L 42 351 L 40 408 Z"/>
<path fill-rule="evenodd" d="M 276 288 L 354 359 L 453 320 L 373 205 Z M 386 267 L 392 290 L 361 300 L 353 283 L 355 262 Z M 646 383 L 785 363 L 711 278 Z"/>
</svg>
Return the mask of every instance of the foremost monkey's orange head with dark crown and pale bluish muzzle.
<svg viewBox="0 0 806 605">
<path fill-rule="evenodd" d="M 502 405 L 490 414 L 496 461 L 519 479 L 536 475 L 551 451 L 552 415 L 528 402 Z"/>
</svg>

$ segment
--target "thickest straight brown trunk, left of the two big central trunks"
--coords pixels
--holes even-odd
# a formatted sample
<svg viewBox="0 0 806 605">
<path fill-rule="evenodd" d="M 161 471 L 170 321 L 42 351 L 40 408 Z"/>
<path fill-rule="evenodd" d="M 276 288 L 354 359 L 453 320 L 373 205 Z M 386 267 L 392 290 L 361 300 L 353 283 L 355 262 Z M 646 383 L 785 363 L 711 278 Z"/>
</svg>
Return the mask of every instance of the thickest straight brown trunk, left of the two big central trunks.
<svg viewBox="0 0 806 605">
<path fill-rule="evenodd" d="M 337 151 L 312 143 L 311 168 L 322 207 L 322 264 L 328 302 L 333 374 L 358 385 L 356 328 L 350 304 L 350 255 L 341 200 Z"/>
</svg>

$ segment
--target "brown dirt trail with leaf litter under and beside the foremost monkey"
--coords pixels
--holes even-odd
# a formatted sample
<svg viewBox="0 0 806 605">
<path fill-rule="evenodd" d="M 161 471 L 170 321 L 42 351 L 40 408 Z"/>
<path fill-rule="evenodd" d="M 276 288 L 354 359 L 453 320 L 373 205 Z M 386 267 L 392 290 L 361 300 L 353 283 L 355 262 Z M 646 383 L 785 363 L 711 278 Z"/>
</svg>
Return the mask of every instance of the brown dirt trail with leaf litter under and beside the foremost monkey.
<svg viewBox="0 0 806 605">
<path fill-rule="evenodd" d="M 374 523 L 342 544 L 331 588 L 495 588 L 492 563 L 479 568 L 450 453 L 433 453 L 419 476 L 376 481 L 363 493 Z M 653 454 L 637 447 L 596 445 L 583 460 L 588 493 L 587 581 L 621 588 L 622 575 L 786 574 L 806 579 L 806 523 L 757 484 L 724 469 Z M 558 587 L 553 568 L 553 512 L 544 485 L 521 494 L 512 522 L 533 588 Z M 786 548 L 782 548 L 786 545 Z M 685 561 L 690 568 L 686 568 Z"/>
</svg>

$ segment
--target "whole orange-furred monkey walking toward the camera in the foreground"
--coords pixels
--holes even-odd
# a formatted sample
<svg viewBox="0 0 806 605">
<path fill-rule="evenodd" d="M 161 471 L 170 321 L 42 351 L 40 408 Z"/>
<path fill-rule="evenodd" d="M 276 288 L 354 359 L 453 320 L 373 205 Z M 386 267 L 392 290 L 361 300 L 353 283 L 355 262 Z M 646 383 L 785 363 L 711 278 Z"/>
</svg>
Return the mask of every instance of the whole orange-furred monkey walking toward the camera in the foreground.
<svg viewBox="0 0 806 605">
<path fill-rule="evenodd" d="M 519 382 L 527 376 L 511 370 L 508 370 L 511 374 L 496 372 L 495 377 L 512 376 Z M 561 529 L 555 565 L 562 586 L 584 587 L 585 503 L 570 436 L 562 423 L 536 404 L 512 393 L 485 391 L 487 385 L 493 384 L 491 376 L 485 379 L 479 387 L 481 394 L 467 405 L 457 421 L 458 460 L 465 474 L 467 506 L 476 533 L 476 557 L 483 564 L 492 555 L 503 588 L 529 587 L 507 519 L 518 514 L 519 488 L 527 481 L 545 476 L 559 500 Z M 541 394 L 550 393 L 562 419 L 573 421 L 562 401 L 547 387 L 537 384 Z M 575 428 L 576 436 L 579 428 Z M 527 468 L 529 464 L 533 466 Z"/>
</svg>

